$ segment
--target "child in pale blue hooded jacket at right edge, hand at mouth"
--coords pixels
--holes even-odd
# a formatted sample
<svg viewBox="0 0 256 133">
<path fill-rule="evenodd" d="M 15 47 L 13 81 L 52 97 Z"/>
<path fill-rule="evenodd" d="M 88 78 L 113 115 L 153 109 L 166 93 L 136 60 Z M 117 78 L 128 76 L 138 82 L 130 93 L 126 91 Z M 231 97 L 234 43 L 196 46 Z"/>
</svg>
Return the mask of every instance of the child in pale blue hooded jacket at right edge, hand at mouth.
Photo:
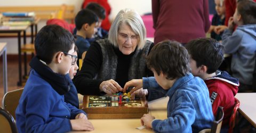
<svg viewBox="0 0 256 133">
<path fill-rule="evenodd" d="M 225 53 L 232 54 L 231 71 L 239 79 L 239 92 L 251 92 L 256 51 L 256 3 L 238 1 L 235 14 L 230 17 L 228 29 L 223 32 Z M 235 24 L 237 28 L 233 31 Z"/>
</svg>

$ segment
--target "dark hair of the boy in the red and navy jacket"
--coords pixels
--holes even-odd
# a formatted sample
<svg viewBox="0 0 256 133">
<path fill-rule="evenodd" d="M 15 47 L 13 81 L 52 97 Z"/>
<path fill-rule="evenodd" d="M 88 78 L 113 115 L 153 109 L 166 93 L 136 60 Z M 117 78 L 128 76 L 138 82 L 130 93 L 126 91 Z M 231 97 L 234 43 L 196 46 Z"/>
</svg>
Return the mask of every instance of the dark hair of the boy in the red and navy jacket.
<svg viewBox="0 0 256 133">
<path fill-rule="evenodd" d="M 219 68 L 224 60 L 224 46 L 213 38 L 198 38 L 189 41 L 186 46 L 191 59 L 196 61 L 197 68 L 207 66 L 206 73 L 211 74 Z"/>
</svg>

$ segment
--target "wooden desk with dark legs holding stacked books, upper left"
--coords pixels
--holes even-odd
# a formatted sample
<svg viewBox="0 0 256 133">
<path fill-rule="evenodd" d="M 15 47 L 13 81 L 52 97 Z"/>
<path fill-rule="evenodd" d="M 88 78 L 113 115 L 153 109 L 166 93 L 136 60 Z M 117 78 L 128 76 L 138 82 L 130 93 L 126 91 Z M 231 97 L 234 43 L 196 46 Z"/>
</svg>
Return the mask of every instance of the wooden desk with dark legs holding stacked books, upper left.
<svg viewBox="0 0 256 133">
<path fill-rule="evenodd" d="M 19 56 L 19 81 L 18 86 L 22 85 L 21 79 L 21 32 L 23 32 L 23 43 L 26 44 L 26 29 L 27 26 L 0 26 L 0 33 L 17 33 L 18 34 L 18 56 Z"/>
</svg>

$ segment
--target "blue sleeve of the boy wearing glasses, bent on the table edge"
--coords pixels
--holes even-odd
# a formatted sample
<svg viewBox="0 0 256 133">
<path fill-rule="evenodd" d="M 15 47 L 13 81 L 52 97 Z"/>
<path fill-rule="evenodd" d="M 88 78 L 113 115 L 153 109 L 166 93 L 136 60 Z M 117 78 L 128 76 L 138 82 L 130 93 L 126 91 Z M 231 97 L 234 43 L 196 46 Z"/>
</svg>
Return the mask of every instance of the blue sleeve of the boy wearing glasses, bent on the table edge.
<svg viewBox="0 0 256 133">
<path fill-rule="evenodd" d="M 38 87 L 36 90 L 29 93 L 27 98 L 26 132 L 71 131 L 71 123 L 68 118 L 55 117 L 50 121 L 46 121 L 50 116 L 51 109 L 56 104 L 55 96 L 51 90 L 45 90 L 45 86 Z"/>
</svg>

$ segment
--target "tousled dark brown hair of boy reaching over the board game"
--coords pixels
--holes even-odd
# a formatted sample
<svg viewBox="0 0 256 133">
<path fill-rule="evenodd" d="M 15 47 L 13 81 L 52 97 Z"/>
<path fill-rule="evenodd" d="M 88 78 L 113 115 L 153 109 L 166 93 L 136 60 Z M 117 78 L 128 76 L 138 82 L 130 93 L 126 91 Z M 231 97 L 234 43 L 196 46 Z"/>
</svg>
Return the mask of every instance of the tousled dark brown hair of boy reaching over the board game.
<svg viewBox="0 0 256 133">
<path fill-rule="evenodd" d="M 185 47 L 177 41 L 164 40 L 156 44 L 147 56 L 147 66 L 166 79 L 173 80 L 190 72 L 189 55 Z"/>
</svg>

